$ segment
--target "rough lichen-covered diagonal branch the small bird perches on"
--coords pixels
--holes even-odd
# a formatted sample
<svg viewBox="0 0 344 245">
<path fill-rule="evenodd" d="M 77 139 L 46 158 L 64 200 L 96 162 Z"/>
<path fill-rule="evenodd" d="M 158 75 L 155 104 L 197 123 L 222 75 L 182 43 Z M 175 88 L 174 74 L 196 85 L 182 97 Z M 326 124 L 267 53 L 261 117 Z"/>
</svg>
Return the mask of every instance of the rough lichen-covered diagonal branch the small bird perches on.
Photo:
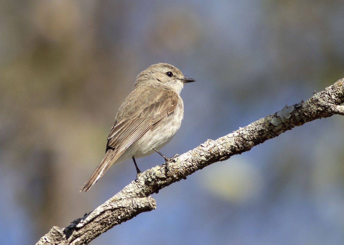
<svg viewBox="0 0 344 245">
<path fill-rule="evenodd" d="M 344 115 L 344 106 L 341 105 L 343 102 L 344 79 L 341 79 L 323 91 L 314 93 L 307 101 L 284 107 L 278 113 L 261 118 L 217 140 L 207 140 L 173 159 L 169 164 L 169 171 L 164 164 L 144 171 L 138 179 L 103 205 L 63 229 L 54 226 L 36 244 L 88 244 L 115 225 L 132 219 L 141 212 L 155 209 L 155 200 L 149 195 L 158 193 L 165 186 L 185 179 L 212 163 L 249 151 L 255 145 L 296 126 L 335 114 Z"/>
</svg>

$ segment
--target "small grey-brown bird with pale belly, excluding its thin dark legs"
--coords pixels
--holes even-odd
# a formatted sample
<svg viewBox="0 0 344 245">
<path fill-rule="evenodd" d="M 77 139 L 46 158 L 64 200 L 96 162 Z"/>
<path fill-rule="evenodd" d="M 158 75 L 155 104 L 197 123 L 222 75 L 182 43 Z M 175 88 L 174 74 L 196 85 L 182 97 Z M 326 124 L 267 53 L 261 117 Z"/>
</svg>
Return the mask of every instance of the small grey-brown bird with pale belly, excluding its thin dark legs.
<svg viewBox="0 0 344 245">
<path fill-rule="evenodd" d="M 133 91 L 118 109 L 108 136 L 106 153 L 80 191 L 87 191 L 113 164 L 140 158 L 164 147 L 175 135 L 183 119 L 180 92 L 185 78 L 172 65 L 158 63 L 142 71 Z"/>
</svg>

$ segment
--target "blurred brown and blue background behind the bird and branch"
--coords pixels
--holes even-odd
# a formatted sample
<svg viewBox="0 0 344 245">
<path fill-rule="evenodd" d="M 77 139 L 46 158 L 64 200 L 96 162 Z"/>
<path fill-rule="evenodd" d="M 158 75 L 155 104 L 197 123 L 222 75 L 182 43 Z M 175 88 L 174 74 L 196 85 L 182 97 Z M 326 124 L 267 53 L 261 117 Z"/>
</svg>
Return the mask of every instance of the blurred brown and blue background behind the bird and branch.
<svg viewBox="0 0 344 245">
<path fill-rule="evenodd" d="M 1 244 L 34 244 L 136 178 L 127 160 L 79 193 L 118 107 L 154 63 L 196 79 L 167 156 L 344 77 L 340 0 L 0 3 Z M 343 244 L 343 126 L 342 116 L 312 121 L 206 167 L 90 244 Z"/>
</svg>

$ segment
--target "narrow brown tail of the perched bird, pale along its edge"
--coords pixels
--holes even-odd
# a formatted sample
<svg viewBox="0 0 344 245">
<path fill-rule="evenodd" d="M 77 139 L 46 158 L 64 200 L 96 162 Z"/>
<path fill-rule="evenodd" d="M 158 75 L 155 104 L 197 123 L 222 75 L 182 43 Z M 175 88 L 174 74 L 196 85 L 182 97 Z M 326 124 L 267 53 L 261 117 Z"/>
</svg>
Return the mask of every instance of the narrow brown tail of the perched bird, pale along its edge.
<svg viewBox="0 0 344 245">
<path fill-rule="evenodd" d="M 112 150 L 108 150 L 104 156 L 104 159 L 101 160 L 96 170 L 92 173 L 84 186 L 80 189 L 80 192 L 88 191 L 97 182 L 97 180 L 101 176 L 103 176 L 103 174 L 105 174 L 108 168 L 118 159 L 118 157 L 118 154 L 114 154 Z"/>
</svg>

